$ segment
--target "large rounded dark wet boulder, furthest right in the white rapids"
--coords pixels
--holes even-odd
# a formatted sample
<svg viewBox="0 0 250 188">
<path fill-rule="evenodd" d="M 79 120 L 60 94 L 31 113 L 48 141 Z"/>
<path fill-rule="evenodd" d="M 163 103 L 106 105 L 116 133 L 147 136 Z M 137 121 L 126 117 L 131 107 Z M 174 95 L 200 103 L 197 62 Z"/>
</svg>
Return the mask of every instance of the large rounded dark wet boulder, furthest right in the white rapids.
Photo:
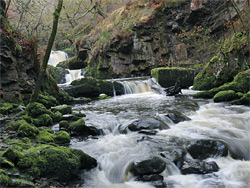
<svg viewBox="0 0 250 188">
<path fill-rule="evenodd" d="M 209 157 L 225 157 L 228 148 L 221 142 L 214 140 L 198 140 L 187 146 L 187 151 L 194 159 L 207 159 Z"/>
</svg>

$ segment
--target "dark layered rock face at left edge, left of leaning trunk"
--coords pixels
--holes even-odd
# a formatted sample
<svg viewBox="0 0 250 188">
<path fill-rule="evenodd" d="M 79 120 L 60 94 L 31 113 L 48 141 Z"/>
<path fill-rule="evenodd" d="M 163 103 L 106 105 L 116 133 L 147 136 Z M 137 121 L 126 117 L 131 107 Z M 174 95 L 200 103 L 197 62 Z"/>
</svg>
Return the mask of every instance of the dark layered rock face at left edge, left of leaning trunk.
<svg viewBox="0 0 250 188">
<path fill-rule="evenodd" d="M 3 2 L 1 10 L 5 10 Z M 36 43 L 11 31 L 3 11 L 0 22 L 0 98 L 18 102 L 31 94 L 35 84 Z"/>
</svg>

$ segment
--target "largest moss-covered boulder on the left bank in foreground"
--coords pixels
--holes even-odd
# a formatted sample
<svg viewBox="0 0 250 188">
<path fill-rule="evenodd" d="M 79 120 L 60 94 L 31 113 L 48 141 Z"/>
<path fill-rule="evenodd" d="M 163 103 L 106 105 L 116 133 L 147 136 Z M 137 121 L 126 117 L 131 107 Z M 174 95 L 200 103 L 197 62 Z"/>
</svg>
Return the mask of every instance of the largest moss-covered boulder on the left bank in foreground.
<svg viewBox="0 0 250 188">
<path fill-rule="evenodd" d="M 56 178 L 59 181 L 70 181 L 79 175 L 84 164 L 92 168 L 96 160 L 84 152 L 62 146 L 40 145 L 23 151 L 23 158 L 17 166 L 23 173 L 33 177 Z M 86 157 L 82 160 L 83 156 Z"/>
</svg>

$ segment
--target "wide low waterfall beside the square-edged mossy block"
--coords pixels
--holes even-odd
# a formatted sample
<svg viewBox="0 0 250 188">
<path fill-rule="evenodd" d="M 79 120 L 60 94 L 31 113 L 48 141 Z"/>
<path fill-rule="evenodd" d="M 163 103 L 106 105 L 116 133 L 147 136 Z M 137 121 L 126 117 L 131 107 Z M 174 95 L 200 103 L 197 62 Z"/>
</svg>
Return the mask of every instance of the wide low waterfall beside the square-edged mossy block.
<svg viewBox="0 0 250 188">
<path fill-rule="evenodd" d="M 132 81 L 119 81 L 124 87 L 125 94 L 133 93 L 145 93 L 154 92 L 158 94 L 165 94 L 164 88 L 162 88 L 155 78 L 147 80 L 132 80 Z"/>
</svg>

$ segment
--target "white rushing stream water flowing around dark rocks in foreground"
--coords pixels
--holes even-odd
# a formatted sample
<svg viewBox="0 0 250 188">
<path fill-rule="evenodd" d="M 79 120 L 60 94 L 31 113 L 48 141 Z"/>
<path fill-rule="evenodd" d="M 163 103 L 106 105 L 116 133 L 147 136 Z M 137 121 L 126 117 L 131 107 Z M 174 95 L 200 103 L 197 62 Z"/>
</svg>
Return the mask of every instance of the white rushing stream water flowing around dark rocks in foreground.
<svg viewBox="0 0 250 188">
<path fill-rule="evenodd" d="M 144 82 L 145 83 L 145 82 Z M 129 83 L 144 87 L 144 83 Z M 136 86 L 135 86 L 136 85 Z M 147 84 L 146 84 L 147 85 Z M 131 87 L 130 87 L 131 88 Z M 148 85 L 110 99 L 76 105 L 86 114 L 85 122 L 104 131 L 104 136 L 74 139 L 71 147 L 81 149 L 98 161 L 98 167 L 83 173 L 82 188 L 152 188 L 150 183 L 135 181 L 128 173 L 132 162 L 159 156 L 169 147 L 178 147 L 186 140 L 214 139 L 225 143 L 242 160 L 227 157 L 210 158 L 220 170 L 207 175 L 182 175 L 172 163 L 161 175 L 171 188 L 248 188 L 250 187 L 250 108 L 211 100 L 193 99 L 195 91 L 182 90 L 181 96 L 158 94 Z M 130 91 L 127 93 L 131 93 Z M 170 129 L 156 135 L 137 132 L 120 134 L 117 129 L 134 119 L 163 118 L 162 114 L 178 111 L 191 121 L 174 124 L 165 119 Z"/>
</svg>

